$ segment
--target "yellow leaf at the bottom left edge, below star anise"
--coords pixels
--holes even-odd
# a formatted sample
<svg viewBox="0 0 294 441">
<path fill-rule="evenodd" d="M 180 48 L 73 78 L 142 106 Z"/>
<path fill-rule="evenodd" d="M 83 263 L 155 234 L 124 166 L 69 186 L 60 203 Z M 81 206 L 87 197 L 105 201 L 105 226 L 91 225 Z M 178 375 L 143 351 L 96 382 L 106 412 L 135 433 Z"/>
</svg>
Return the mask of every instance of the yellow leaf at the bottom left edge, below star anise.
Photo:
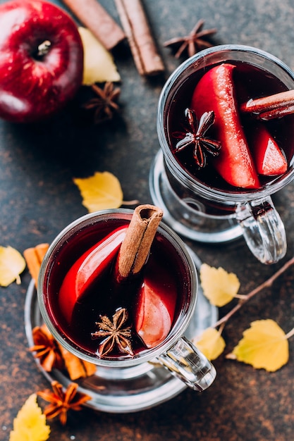
<svg viewBox="0 0 294 441">
<path fill-rule="evenodd" d="M 37 395 L 32 394 L 14 418 L 9 441 L 46 441 L 49 434 L 50 427 L 37 404 Z"/>
</svg>

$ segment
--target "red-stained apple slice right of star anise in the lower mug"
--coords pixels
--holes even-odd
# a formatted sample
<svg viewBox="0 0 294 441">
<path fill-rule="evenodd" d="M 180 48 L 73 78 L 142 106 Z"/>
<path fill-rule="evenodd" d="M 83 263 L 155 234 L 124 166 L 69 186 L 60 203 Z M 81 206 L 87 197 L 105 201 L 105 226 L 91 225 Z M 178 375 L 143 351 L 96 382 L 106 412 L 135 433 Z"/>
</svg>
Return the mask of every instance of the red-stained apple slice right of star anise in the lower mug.
<svg viewBox="0 0 294 441">
<path fill-rule="evenodd" d="M 155 266 L 148 269 L 137 294 L 133 321 L 137 334 L 151 348 L 163 342 L 171 330 L 178 292 L 171 273 Z"/>
</svg>

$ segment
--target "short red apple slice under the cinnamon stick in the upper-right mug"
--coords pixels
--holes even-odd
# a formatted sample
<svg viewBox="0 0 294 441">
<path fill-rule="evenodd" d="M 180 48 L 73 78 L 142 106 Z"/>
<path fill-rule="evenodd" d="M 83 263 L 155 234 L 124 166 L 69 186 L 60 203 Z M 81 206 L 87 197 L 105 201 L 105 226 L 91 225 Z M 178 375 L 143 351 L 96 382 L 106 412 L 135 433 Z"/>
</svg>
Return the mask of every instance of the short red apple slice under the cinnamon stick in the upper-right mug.
<svg viewBox="0 0 294 441">
<path fill-rule="evenodd" d="M 258 124 L 252 133 L 250 145 L 257 173 L 265 176 L 286 173 L 288 168 L 286 156 L 262 123 Z"/>
</svg>

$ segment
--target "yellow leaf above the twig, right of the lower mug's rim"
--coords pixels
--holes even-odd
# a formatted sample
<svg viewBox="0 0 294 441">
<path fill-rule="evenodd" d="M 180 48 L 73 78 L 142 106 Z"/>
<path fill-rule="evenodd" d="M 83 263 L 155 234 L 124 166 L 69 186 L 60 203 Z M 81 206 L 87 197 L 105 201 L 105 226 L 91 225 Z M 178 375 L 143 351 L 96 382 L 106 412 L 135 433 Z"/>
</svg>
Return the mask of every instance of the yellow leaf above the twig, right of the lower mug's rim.
<svg viewBox="0 0 294 441">
<path fill-rule="evenodd" d="M 223 306 L 238 294 L 240 282 L 237 275 L 227 273 L 223 268 L 213 268 L 202 263 L 200 281 L 204 296 L 214 306 Z"/>
</svg>

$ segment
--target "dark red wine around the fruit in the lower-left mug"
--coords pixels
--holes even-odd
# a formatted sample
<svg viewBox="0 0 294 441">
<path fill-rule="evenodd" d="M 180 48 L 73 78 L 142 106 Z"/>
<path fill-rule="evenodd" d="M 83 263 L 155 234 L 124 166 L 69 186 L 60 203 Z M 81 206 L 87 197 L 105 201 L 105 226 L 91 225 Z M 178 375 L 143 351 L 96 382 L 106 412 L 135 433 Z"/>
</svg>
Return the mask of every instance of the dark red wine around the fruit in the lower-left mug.
<svg viewBox="0 0 294 441">
<path fill-rule="evenodd" d="M 96 225 L 88 225 L 86 228 L 83 228 L 68 240 L 66 246 L 59 251 L 58 256 L 54 256 L 51 270 L 47 272 L 47 280 L 44 280 L 47 311 L 49 316 L 51 316 L 51 321 L 53 321 L 61 335 L 70 340 L 73 346 L 87 354 L 97 354 L 99 342 L 104 339 L 104 337 L 99 337 L 99 339 L 92 338 L 91 334 L 98 330 L 95 323 L 101 321 L 100 316 L 104 315 L 108 316 L 112 321 L 112 316 L 118 308 L 126 308 L 128 310 L 128 322 L 125 322 L 123 327 L 130 326 L 132 329 L 131 344 L 134 354 L 137 355 L 147 350 L 140 337 L 135 333 L 132 323 L 136 292 L 142 282 L 142 275 L 140 279 L 134 278 L 130 282 L 116 285 L 113 277 L 113 266 L 111 266 L 97 280 L 97 283 L 90 287 L 90 290 L 82 297 L 81 302 L 75 306 L 69 325 L 63 317 L 58 302 L 59 288 L 71 265 L 83 252 L 99 242 L 99 240 L 102 240 L 109 232 L 126 223 L 128 221 L 122 219 L 111 220 L 99 222 Z M 157 232 L 144 271 L 147 273 L 147 277 L 152 277 L 154 268 L 157 268 L 157 271 L 162 274 L 168 270 L 169 274 L 172 275 L 173 284 L 178 292 L 174 321 L 176 321 L 181 311 L 190 302 L 191 285 L 190 278 L 188 278 L 189 271 L 187 265 L 188 263 L 180 258 L 178 251 L 169 242 L 165 234 Z M 164 285 L 164 278 L 158 279 Z M 114 348 L 114 351 L 111 351 L 106 358 L 123 359 L 125 356 L 128 355 L 122 354 Z"/>
</svg>

